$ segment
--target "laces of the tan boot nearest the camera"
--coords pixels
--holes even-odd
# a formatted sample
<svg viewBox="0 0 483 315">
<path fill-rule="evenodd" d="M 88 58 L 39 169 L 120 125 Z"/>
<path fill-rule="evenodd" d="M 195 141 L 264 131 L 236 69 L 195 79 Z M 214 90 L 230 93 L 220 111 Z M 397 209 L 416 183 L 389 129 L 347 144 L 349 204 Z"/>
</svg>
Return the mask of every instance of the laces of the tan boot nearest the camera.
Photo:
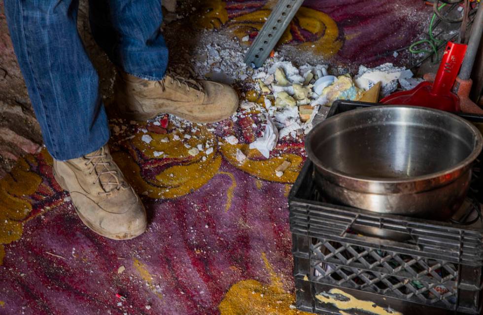
<svg viewBox="0 0 483 315">
<path fill-rule="evenodd" d="M 99 154 L 85 155 L 84 159 L 87 160 L 85 165 L 90 165 L 89 174 L 94 172 L 97 174 L 93 184 L 99 182 L 101 188 L 104 190 L 103 192 L 98 193 L 100 196 L 109 196 L 114 191 L 126 188 L 124 180 L 119 179 L 118 171 L 109 169 L 109 167 L 112 166 L 112 162 L 110 161 L 110 158 L 107 158 L 107 153 L 105 152 L 104 147 Z"/>
</svg>

